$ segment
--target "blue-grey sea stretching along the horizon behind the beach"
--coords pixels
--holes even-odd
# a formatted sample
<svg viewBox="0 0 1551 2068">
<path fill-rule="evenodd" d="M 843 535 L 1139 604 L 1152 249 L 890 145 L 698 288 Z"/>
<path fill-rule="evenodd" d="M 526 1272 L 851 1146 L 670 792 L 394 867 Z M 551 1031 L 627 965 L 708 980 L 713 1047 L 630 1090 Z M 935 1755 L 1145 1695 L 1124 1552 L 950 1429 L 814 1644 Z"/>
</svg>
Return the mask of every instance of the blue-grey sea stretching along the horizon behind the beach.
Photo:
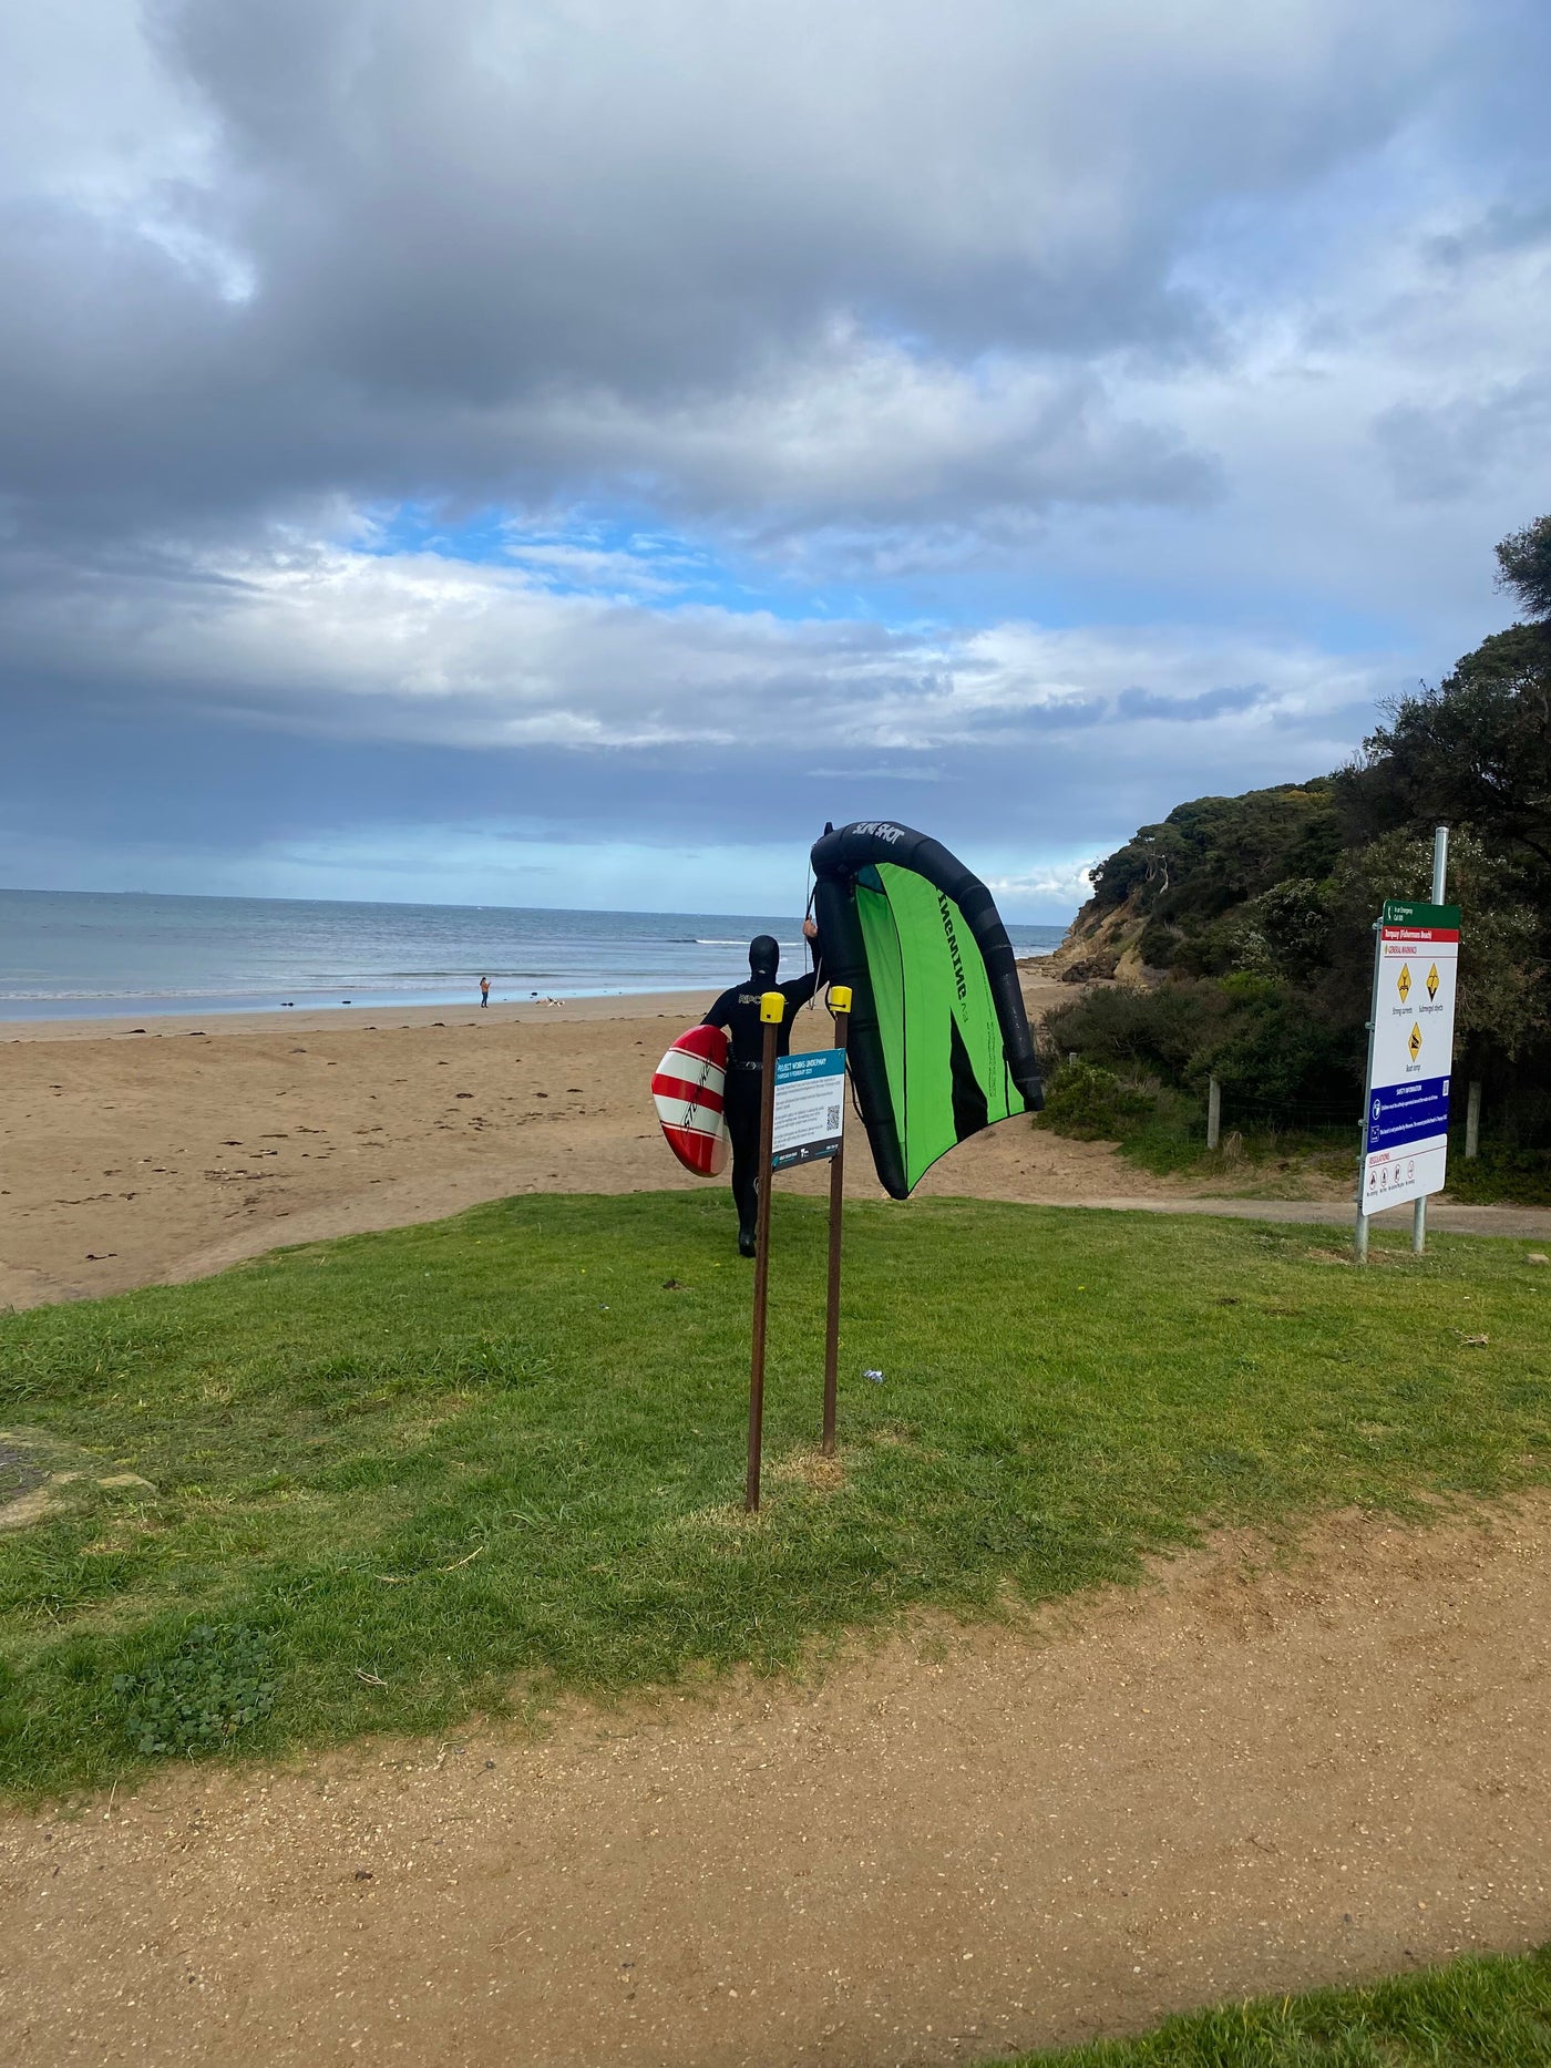
<svg viewBox="0 0 1551 2068">
<path fill-rule="evenodd" d="M 0 1020 L 474 1005 L 482 974 L 496 1001 L 705 991 L 749 968 L 755 933 L 782 974 L 807 968 L 790 914 L 0 891 Z M 1007 933 L 1032 955 L 1063 929 Z"/>
</svg>

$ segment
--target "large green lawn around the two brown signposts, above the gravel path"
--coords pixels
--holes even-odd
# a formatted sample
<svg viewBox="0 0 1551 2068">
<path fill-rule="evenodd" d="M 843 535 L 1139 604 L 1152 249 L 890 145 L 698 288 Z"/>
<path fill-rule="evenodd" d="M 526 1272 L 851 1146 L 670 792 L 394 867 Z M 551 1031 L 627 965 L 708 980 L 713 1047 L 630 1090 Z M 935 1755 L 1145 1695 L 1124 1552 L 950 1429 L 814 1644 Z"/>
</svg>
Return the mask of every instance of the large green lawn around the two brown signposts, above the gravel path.
<svg viewBox="0 0 1551 2068">
<path fill-rule="evenodd" d="M 753 1524 L 720 1189 L 511 1199 L 0 1317 L 0 1429 L 83 1474 L 0 1532 L 0 1787 L 782 1667 L 1216 1522 L 1551 1477 L 1526 1245 L 1412 1261 L 1386 1233 L 1355 1272 L 1324 1228 L 949 1199 L 848 1210 L 844 1485 L 815 1485 L 823 1230 L 778 1197 Z M 124 1472 L 149 1487 L 99 1485 Z"/>
</svg>

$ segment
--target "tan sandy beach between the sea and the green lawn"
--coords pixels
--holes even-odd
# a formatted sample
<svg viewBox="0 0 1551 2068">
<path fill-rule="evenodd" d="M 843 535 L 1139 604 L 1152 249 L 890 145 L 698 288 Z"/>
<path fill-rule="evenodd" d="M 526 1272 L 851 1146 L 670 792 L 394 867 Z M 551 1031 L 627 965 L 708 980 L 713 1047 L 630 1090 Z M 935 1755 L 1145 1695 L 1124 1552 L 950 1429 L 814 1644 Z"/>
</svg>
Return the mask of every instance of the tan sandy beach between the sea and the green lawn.
<svg viewBox="0 0 1551 2068">
<path fill-rule="evenodd" d="M 730 968 L 736 976 L 736 968 Z M 1030 1011 L 1069 997 L 1028 974 Z M 455 1214 L 521 1191 L 693 1187 L 649 1075 L 709 993 L 207 1020 L 12 1024 L 0 1034 L 0 1305 L 219 1270 L 277 1243 Z M 145 1032 L 134 1032 L 145 1028 Z M 823 1009 L 794 1046 L 825 1046 Z M 881 1197 L 860 1131 L 848 1191 Z M 782 1185 L 821 1189 L 821 1170 Z M 926 1191 L 1168 1197 L 1104 1144 L 1007 1123 Z"/>
</svg>

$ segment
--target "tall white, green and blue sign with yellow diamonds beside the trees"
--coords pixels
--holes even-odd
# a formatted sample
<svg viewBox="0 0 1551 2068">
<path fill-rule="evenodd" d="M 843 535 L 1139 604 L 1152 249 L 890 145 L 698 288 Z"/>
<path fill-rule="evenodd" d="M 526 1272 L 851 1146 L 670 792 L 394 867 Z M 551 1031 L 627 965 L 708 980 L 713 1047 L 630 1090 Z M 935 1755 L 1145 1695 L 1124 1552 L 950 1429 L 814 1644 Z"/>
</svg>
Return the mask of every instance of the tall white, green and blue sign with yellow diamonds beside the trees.
<svg viewBox="0 0 1551 2068">
<path fill-rule="evenodd" d="M 1460 908 L 1390 902 L 1373 962 L 1359 1206 L 1443 1189 Z"/>
</svg>

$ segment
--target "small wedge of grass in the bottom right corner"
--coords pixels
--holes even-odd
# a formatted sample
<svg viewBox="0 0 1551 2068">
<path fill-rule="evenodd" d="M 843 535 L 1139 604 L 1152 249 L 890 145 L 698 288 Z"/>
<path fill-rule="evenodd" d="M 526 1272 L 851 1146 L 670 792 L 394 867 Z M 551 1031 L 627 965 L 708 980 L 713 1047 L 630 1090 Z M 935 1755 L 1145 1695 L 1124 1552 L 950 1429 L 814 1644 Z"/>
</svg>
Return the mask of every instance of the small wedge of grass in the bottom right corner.
<svg viewBox="0 0 1551 2068">
<path fill-rule="evenodd" d="M 1369 1989 L 1193 2010 L 1142 2039 L 1003 2068 L 1537 2068 L 1551 2064 L 1551 1950 L 1454 1960 Z"/>
</svg>

